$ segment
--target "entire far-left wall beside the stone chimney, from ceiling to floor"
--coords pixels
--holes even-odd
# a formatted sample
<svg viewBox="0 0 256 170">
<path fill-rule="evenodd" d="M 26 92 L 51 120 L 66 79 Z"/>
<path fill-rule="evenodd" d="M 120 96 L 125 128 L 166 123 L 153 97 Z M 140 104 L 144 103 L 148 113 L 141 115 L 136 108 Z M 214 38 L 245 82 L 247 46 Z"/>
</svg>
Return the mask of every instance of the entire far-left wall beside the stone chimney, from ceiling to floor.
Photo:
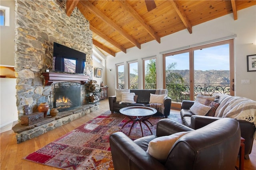
<svg viewBox="0 0 256 170">
<path fill-rule="evenodd" d="M 14 66 L 15 1 L 1 0 L 0 5 L 10 8 L 10 26 L 0 26 L 0 65 Z M 0 74 L 12 77 L 0 78 L 0 127 L 4 127 L 18 120 L 16 78 L 8 67 L 0 68 Z"/>
</svg>

